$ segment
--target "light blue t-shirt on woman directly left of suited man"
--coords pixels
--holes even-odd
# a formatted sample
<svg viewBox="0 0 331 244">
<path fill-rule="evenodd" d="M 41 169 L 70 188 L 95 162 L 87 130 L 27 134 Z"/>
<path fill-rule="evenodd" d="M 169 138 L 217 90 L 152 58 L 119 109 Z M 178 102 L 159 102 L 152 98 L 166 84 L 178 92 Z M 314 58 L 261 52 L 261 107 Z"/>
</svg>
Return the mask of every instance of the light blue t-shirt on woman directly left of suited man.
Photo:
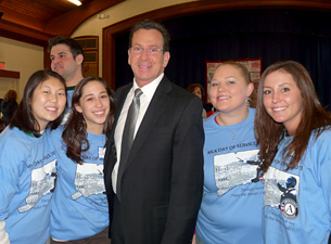
<svg viewBox="0 0 331 244">
<path fill-rule="evenodd" d="M 51 137 L 58 158 L 51 236 L 72 241 L 96 235 L 110 224 L 103 179 L 105 136 L 87 133 L 90 149 L 82 153 L 79 165 L 66 156 L 62 132 L 63 127 L 53 130 Z"/>
</svg>

